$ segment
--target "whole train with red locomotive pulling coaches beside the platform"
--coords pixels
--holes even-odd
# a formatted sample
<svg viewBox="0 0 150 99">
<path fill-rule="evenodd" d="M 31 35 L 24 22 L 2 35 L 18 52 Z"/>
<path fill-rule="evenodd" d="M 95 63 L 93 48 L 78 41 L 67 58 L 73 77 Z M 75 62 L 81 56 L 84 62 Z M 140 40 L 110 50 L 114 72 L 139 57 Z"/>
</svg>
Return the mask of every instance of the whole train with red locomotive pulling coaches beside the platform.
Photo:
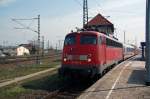
<svg viewBox="0 0 150 99">
<path fill-rule="evenodd" d="M 133 46 L 96 31 L 72 32 L 66 35 L 58 72 L 63 77 L 94 78 L 135 55 Z"/>
</svg>

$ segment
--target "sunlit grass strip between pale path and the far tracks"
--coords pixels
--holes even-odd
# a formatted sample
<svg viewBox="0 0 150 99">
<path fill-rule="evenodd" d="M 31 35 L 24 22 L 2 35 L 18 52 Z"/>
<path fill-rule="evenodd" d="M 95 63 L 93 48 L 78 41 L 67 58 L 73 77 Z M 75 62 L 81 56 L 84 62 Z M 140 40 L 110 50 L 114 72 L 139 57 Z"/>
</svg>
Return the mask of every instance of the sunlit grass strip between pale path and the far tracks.
<svg viewBox="0 0 150 99">
<path fill-rule="evenodd" d="M 15 77 L 25 76 L 31 73 L 39 72 L 46 70 L 48 68 L 54 68 L 60 64 L 60 59 L 55 60 L 43 59 L 41 60 L 42 64 L 15 64 L 13 66 L 1 66 L 0 67 L 0 82 L 13 79 Z"/>
</svg>

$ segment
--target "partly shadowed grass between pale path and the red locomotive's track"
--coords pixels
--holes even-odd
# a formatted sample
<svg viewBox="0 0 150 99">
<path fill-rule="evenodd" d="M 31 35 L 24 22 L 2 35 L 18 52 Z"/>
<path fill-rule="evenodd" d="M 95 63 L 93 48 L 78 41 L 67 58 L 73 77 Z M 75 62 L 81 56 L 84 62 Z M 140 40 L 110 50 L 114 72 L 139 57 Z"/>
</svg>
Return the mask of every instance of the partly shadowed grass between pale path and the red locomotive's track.
<svg viewBox="0 0 150 99">
<path fill-rule="evenodd" d="M 49 91 L 54 91 L 62 84 L 62 79 L 57 75 L 56 71 L 42 75 L 38 78 L 33 78 L 28 81 L 14 84 L 0 89 L 0 99 L 28 99 L 36 97 L 40 99 L 41 94 L 47 94 Z M 36 96 L 33 96 L 36 94 Z"/>
</svg>

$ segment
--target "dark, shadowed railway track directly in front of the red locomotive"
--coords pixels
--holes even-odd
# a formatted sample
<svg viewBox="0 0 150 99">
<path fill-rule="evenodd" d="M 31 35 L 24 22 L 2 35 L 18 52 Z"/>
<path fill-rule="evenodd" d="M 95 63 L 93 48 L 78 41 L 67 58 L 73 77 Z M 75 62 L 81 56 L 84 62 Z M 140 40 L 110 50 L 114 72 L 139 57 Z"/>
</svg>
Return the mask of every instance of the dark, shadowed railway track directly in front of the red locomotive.
<svg viewBox="0 0 150 99">
<path fill-rule="evenodd" d="M 64 83 L 65 85 L 58 88 L 54 92 L 50 92 L 43 96 L 42 99 L 76 99 L 81 93 L 89 88 L 93 83 L 91 82 L 72 82 Z"/>
</svg>

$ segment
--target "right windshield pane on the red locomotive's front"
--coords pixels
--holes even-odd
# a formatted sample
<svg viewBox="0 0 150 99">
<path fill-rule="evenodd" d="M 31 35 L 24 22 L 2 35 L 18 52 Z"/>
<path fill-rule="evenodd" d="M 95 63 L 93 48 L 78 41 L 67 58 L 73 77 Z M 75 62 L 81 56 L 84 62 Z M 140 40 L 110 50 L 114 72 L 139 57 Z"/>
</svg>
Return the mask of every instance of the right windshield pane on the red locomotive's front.
<svg viewBox="0 0 150 99">
<path fill-rule="evenodd" d="M 81 35 L 81 44 L 97 44 L 97 39 L 95 35 Z"/>
</svg>

